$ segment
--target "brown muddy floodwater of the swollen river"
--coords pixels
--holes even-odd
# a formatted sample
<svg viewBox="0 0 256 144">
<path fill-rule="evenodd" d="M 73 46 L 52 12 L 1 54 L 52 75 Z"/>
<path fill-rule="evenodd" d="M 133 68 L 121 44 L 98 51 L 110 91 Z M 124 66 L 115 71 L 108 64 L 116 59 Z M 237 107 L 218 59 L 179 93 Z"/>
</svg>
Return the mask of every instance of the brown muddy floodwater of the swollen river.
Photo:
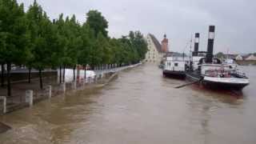
<svg viewBox="0 0 256 144">
<path fill-rule="evenodd" d="M 0 143 L 255 144 L 256 67 L 242 94 L 162 78 L 157 66 L 122 71 L 102 89 L 58 96 L 6 114 Z"/>
</svg>

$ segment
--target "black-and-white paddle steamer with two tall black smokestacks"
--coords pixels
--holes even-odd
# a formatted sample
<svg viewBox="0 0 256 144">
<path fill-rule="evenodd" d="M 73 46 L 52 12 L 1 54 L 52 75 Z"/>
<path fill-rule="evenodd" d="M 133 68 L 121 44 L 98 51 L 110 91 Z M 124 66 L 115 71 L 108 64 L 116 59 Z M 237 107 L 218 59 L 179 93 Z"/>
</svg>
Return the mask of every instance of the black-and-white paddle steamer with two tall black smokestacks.
<svg viewBox="0 0 256 144">
<path fill-rule="evenodd" d="M 222 62 L 213 56 L 214 30 L 215 27 L 210 26 L 206 52 L 198 52 L 198 44 L 195 44 L 190 69 L 186 71 L 186 78 L 209 88 L 242 90 L 250 84 L 246 74 L 240 72 L 234 63 Z M 198 34 L 196 34 L 196 38 L 199 38 Z"/>
</svg>

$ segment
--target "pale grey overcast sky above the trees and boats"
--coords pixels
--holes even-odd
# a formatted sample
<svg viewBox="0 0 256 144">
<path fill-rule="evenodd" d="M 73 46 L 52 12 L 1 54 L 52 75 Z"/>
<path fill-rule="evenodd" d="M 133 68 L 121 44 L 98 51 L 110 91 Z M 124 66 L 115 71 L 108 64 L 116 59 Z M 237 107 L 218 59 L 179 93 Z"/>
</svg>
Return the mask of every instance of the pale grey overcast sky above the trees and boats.
<svg viewBox="0 0 256 144">
<path fill-rule="evenodd" d="M 28 7 L 34 0 L 18 0 Z M 209 25 L 216 26 L 214 52 L 256 52 L 255 0 L 38 0 L 50 18 L 75 14 L 86 21 L 89 10 L 99 10 L 109 22 L 109 34 L 119 38 L 130 30 L 163 34 L 170 50 L 182 52 L 191 34 L 201 34 L 200 50 L 206 50 Z M 189 48 L 186 48 L 188 51 Z"/>
</svg>

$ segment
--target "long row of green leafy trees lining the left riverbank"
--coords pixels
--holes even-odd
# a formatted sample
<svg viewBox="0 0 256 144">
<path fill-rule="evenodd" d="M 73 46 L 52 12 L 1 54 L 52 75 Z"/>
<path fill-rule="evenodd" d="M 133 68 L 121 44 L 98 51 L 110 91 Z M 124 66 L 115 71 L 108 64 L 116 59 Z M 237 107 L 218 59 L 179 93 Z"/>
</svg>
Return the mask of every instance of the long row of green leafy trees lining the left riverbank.
<svg viewBox="0 0 256 144">
<path fill-rule="evenodd" d="M 144 59 L 147 44 L 139 31 L 117 39 L 110 38 L 107 29 L 108 22 L 98 10 L 90 10 L 86 22 L 79 23 L 75 15 L 64 18 L 60 14 L 50 20 L 36 1 L 25 11 L 16 0 L 0 0 L 0 64 L 7 66 L 8 95 L 13 64 L 38 70 L 42 88 L 42 70 L 46 68 L 75 69 L 79 64 L 94 69 Z M 3 79 L 2 70 L 2 85 Z"/>
</svg>

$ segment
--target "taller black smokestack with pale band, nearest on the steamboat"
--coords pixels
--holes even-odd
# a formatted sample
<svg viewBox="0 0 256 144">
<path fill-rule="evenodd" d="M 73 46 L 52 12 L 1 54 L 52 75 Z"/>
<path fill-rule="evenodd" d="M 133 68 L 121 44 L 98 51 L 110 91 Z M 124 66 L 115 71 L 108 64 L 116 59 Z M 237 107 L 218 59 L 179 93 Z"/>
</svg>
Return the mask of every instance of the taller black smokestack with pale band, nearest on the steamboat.
<svg viewBox="0 0 256 144">
<path fill-rule="evenodd" d="M 208 38 L 208 46 L 207 46 L 207 54 L 206 54 L 206 63 L 213 62 L 214 57 L 214 32 L 215 26 L 209 26 L 209 38 Z"/>
</svg>

